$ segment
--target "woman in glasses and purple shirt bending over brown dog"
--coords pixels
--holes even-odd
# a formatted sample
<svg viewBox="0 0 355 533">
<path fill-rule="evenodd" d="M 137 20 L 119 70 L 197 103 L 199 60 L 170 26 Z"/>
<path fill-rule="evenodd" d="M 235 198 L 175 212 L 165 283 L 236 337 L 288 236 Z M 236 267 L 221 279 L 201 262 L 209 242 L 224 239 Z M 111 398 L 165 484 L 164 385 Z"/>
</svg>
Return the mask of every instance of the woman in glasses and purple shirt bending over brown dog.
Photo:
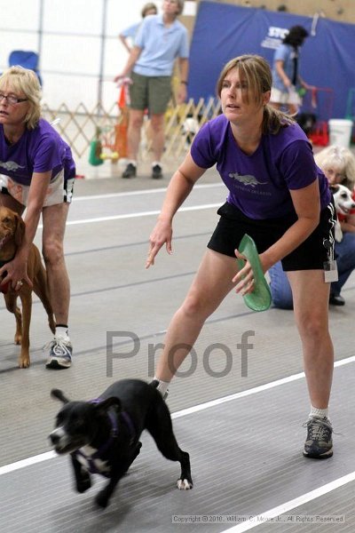
<svg viewBox="0 0 355 533">
<path fill-rule="evenodd" d="M 75 163 L 70 148 L 41 118 L 41 88 L 32 70 L 7 69 L 0 76 L 0 205 L 20 215 L 26 211 L 25 239 L 14 259 L 0 268 L 2 284 L 16 290 L 31 283 L 28 252 L 43 219 L 43 258 L 47 269 L 56 332 L 47 368 L 71 365 L 68 337 L 70 288 L 63 239 L 72 200 Z"/>
</svg>

